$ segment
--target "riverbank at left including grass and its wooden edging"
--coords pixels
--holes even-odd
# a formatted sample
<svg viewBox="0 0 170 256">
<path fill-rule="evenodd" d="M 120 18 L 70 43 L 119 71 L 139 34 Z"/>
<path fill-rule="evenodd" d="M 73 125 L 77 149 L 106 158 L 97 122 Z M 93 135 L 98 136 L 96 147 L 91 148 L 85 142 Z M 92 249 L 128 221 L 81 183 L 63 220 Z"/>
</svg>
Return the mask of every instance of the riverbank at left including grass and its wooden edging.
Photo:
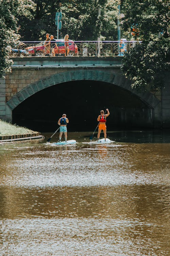
<svg viewBox="0 0 170 256">
<path fill-rule="evenodd" d="M 20 127 L 17 125 L 12 125 L 0 119 L 0 142 L 10 142 L 17 140 L 27 140 L 27 139 L 40 139 L 44 136 L 40 136 L 39 132 L 32 131 L 26 127 Z"/>
</svg>

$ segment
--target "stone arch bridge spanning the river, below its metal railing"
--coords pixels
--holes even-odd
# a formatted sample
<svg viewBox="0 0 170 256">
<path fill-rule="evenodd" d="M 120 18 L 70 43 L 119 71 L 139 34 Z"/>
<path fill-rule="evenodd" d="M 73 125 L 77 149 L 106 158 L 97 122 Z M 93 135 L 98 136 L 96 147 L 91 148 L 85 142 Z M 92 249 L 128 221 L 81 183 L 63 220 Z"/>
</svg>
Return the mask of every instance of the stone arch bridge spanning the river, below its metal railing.
<svg viewBox="0 0 170 256">
<path fill-rule="evenodd" d="M 170 88 L 168 85 L 157 94 L 147 88 L 145 91 L 132 89 L 131 81 L 121 73 L 121 58 L 15 57 L 13 58 L 12 72 L 6 73 L 5 80 L 1 79 L 0 81 L 0 118 L 12 122 L 13 111 L 28 98 L 44 89 L 75 81 L 95 81 L 102 83 L 104 87 L 109 84 L 113 88 L 117 88 L 117 91 L 120 89 L 121 93 L 126 92 L 124 96 L 126 100 L 133 96 L 132 99 L 141 102 L 141 112 L 145 108 L 149 111 L 149 114 L 146 115 L 145 113 L 142 117 L 146 118 L 146 127 L 169 127 Z M 108 93 L 109 91 L 107 91 Z M 114 94 L 114 89 L 112 93 Z M 117 107 L 121 109 L 122 105 L 123 108 L 126 108 L 124 102 L 121 103 L 119 100 L 119 106 Z M 138 108 L 140 108 L 139 103 L 138 105 Z M 114 102 L 113 106 L 115 108 Z M 119 114 L 122 115 L 122 113 Z M 127 116 L 123 118 L 126 121 L 128 119 Z M 133 118 L 136 117 L 133 116 Z"/>
</svg>

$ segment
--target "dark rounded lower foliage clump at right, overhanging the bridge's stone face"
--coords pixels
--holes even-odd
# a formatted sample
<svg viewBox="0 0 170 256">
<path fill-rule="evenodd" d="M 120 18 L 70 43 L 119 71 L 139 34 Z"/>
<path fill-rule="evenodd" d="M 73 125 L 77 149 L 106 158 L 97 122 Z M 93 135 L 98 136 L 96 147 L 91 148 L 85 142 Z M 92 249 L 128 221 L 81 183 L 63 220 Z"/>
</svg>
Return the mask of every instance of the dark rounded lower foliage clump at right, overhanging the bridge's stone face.
<svg viewBox="0 0 170 256">
<path fill-rule="evenodd" d="M 122 71 L 134 81 L 133 88 L 150 84 L 151 89 L 163 86 L 165 71 L 170 68 L 170 49 L 168 39 L 149 43 L 137 43 L 130 54 L 123 58 Z"/>
</svg>

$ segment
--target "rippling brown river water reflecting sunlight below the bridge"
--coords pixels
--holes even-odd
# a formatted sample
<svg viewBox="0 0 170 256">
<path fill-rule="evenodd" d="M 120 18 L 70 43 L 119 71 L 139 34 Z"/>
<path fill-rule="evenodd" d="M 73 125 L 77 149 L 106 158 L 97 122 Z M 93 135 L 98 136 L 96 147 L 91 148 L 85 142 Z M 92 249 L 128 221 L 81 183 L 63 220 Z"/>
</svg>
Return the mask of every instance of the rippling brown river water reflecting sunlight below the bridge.
<svg viewBox="0 0 170 256">
<path fill-rule="evenodd" d="M 1 256 L 170 255 L 169 131 L 44 135 L 0 144 Z"/>
</svg>

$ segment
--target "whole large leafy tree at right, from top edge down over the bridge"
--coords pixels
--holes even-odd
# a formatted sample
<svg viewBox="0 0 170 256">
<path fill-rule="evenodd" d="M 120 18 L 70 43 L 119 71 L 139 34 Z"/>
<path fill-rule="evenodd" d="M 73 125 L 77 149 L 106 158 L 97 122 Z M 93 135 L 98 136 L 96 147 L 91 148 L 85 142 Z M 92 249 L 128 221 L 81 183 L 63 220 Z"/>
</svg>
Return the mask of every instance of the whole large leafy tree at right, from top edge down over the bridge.
<svg viewBox="0 0 170 256">
<path fill-rule="evenodd" d="M 169 71 L 169 3 L 162 0 L 123 2 L 123 29 L 142 40 L 123 58 L 122 71 L 133 80 L 132 87 L 150 85 L 160 89 L 163 74 Z"/>
</svg>

